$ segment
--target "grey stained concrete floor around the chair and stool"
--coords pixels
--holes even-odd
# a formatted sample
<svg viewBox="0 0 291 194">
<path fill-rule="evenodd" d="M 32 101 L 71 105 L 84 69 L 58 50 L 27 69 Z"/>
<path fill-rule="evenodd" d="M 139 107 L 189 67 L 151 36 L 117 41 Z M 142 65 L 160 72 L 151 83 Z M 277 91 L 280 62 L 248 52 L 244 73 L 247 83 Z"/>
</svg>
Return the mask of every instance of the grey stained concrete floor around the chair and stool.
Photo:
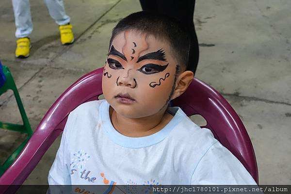
<svg viewBox="0 0 291 194">
<path fill-rule="evenodd" d="M 61 46 L 58 26 L 41 0 L 31 0 L 31 56 L 16 59 L 11 1 L 0 1 L 0 60 L 16 81 L 35 129 L 50 105 L 83 74 L 104 64 L 111 30 L 138 0 L 65 1 L 76 42 Z M 200 43 L 196 76 L 216 88 L 248 130 L 260 184 L 291 184 L 291 1 L 197 0 L 194 23 Z M 0 120 L 21 123 L 16 101 L 0 97 Z M 0 162 L 23 135 L 0 131 Z M 25 184 L 46 184 L 60 138 Z"/>
</svg>

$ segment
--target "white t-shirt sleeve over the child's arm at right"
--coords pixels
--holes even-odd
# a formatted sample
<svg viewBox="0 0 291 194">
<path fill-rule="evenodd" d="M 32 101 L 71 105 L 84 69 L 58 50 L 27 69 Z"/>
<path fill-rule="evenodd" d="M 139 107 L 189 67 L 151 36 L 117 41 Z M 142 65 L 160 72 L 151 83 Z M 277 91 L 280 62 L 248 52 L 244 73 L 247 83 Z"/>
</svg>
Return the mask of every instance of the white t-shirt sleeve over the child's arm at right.
<svg viewBox="0 0 291 194">
<path fill-rule="evenodd" d="M 214 143 L 196 165 L 192 185 L 257 184 L 242 163 L 219 142 Z"/>
</svg>

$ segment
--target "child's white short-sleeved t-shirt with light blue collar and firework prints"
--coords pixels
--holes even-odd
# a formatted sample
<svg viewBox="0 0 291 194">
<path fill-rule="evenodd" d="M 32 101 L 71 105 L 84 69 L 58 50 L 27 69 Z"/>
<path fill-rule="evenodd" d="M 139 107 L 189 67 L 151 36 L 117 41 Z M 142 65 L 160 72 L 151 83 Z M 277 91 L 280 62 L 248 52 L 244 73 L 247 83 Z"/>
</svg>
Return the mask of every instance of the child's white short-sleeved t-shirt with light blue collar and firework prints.
<svg viewBox="0 0 291 194">
<path fill-rule="evenodd" d="M 49 185 L 256 184 L 242 163 L 178 107 L 160 131 L 127 137 L 106 100 L 81 104 L 65 125 Z M 134 129 L 132 129 L 134 130 Z"/>
</svg>

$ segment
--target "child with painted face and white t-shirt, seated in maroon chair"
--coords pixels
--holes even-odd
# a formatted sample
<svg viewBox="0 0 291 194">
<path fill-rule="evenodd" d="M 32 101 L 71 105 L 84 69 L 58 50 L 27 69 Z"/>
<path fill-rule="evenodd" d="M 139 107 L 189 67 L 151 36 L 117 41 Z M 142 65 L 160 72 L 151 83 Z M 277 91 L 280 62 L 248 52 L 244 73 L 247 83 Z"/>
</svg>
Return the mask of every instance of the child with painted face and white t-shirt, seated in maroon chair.
<svg viewBox="0 0 291 194">
<path fill-rule="evenodd" d="M 105 99 L 69 114 L 50 185 L 256 184 L 209 129 L 169 107 L 193 80 L 185 30 L 138 12 L 118 22 L 109 45 Z"/>
</svg>

